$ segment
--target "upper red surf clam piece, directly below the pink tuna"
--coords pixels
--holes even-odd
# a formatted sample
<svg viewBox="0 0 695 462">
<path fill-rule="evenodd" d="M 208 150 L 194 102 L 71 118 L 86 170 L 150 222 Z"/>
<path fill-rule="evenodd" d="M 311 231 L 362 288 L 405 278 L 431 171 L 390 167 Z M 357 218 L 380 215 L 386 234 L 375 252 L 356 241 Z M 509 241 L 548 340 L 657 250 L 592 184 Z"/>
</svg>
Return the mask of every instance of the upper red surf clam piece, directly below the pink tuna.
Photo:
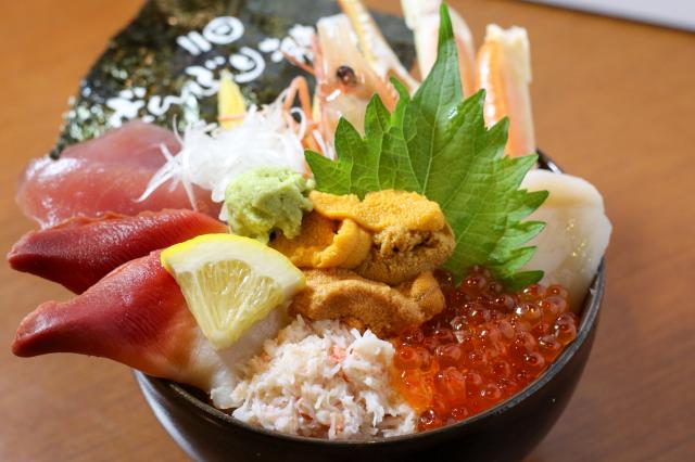
<svg viewBox="0 0 695 462">
<path fill-rule="evenodd" d="M 197 235 L 226 231 L 223 222 L 193 210 L 72 218 L 25 234 L 10 251 L 8 261 L 17 271 L 81 294 L 127 261 Z"/>
</svg>

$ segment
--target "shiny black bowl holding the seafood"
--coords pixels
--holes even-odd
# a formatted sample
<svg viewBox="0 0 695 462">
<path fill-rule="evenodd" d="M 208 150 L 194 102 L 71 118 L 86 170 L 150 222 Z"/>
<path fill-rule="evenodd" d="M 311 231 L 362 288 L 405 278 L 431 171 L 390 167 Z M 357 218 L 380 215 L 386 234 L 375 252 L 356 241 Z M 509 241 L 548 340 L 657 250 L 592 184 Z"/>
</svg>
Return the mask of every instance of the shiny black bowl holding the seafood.
<svg viewBox="0 0 695 462">
<path fill-rule="evenodd" d="M 559 171 L 541 155 L 541 167 Z M 265 431 L 210 406 L 189 387 L 136 372 L 164 428 L 199 461 L 520 461 L 567 406 L 591 351 L 604 293 L 602 264 L 584 299 L 577 338 L 535 382 L 498 406 L 442 428 L 368 441 L 338 442 Z"/>
</svg>

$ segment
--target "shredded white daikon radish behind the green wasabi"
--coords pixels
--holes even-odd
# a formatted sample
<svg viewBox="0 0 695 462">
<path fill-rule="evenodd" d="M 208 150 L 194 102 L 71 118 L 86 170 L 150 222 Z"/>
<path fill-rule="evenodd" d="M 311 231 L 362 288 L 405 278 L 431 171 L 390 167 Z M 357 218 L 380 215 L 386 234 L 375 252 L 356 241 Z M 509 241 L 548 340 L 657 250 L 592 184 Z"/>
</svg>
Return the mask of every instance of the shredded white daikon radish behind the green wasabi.
<svg viewBox="0 0 695 462">
<path fill-rule="evenodd" d="M 178 154 L 172 155 L 166 146 L 161 146 L 166 164 L 154 174 L 138 201 L 173 180 L 170 188 L 180 181 L 195 208 L 193 184 L 211 191 L 214 202 L 223 202 L 227 184 L 253 168 L 287 167 L 305 174 L 302 146 L 305 115 L 298 107 L 290 113 L 283 108 L 286 94 L 287 91 L 261 110 L 251 106 L 243 121 L 228 130 L 216 124 L 189 125 L 184 137 L 178 137 L 181 144 Z M 292 114 L 299 117 L 299 124 Z M 222 207 L 219 218 L 227 219 L 226 207 Z"/>
</svg>

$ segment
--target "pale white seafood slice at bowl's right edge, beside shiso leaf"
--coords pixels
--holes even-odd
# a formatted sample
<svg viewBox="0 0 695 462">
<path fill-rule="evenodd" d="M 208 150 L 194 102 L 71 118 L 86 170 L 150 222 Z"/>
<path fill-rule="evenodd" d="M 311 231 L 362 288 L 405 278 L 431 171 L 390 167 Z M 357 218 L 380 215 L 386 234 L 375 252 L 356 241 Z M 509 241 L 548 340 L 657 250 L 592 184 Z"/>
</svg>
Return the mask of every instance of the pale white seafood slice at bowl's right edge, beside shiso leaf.
<svg viewBox="0 0 695 462">
<path fill-rule="evenodd" d="M 523 269 L 543 270 L 543 284 L 565 286 L 570 306 L 577 311 L 610 239 L 612 227 L 603 197 L 581 178 L 547 170 L 529 171 L 521 188 L 549 192 L 545 203 L 529 217 L 547 224 L 530 242 L 538 249 Z"/>
</svg>

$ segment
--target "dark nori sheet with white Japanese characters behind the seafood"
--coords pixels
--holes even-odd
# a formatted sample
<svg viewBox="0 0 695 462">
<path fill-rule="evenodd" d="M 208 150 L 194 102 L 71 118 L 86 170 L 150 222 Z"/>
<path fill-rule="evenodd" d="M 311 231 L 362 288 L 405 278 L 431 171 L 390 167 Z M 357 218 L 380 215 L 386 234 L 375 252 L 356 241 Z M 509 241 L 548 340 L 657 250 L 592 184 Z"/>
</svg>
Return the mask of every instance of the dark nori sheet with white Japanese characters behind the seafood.
<svg viewBox="0 0 695 462">
<path fill-rule="evenodd" d="M 311 59 L 311 30 L 337 13 L 333 0 L 149 0 L 81 81 L 51 154 L 132 118 L 179 129 L 212 121 L 223 69 L 249 101 L 268 103 L 304 74 L 283 53 Z M 375 18 L 409 67 L 413 38 L 403 21 Z"/>
</svg>

